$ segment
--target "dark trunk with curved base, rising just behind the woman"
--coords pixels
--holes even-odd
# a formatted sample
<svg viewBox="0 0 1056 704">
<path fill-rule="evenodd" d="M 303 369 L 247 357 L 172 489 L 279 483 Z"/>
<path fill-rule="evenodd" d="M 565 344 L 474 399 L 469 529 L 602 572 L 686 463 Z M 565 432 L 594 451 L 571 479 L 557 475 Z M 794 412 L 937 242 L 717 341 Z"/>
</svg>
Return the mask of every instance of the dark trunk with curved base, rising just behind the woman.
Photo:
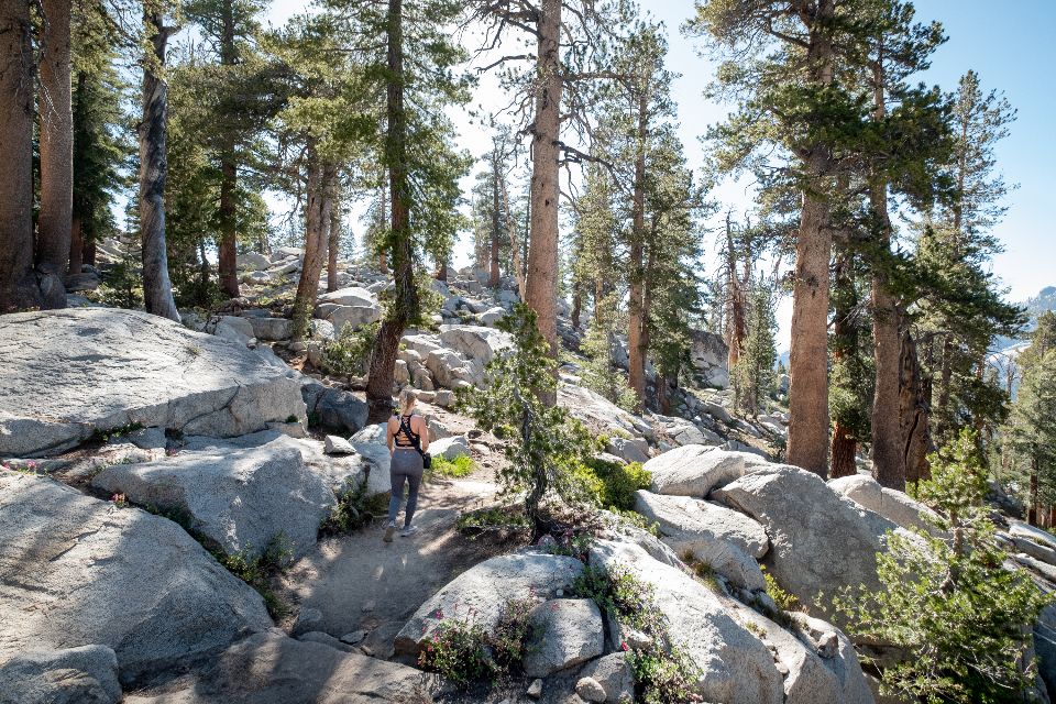
<svg viewBox="0 0 1056 704">
<path fill-rule="evenodd" d="M 407 111 L 404 107 L 403 0 L 388 0 L 388 86 L 385 112 L 385 164 L 392 202 L 389 253 L 396 290 L 377 331 L 366 383 L 369 422 L 383 422 L 393 414 L 393 382 L 399 340 L 407 322 L 417 320 L 414 243 L 410 231 L 410 180 L 407 174 Z"/>
</svg>

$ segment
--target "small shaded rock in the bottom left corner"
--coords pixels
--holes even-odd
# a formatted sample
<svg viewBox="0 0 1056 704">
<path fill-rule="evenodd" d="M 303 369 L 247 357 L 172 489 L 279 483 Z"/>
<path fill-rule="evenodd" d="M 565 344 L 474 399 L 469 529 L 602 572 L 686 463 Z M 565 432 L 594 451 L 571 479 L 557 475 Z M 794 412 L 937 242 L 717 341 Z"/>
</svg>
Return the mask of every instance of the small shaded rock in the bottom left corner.
<svg viewBox="0 0 1056 704">
<path fill-rule="evenodd" d="M 0 704 L 117 704 L 118 657 L 106 646 L 29 650 L 0 666 Z"/>
</svg>

